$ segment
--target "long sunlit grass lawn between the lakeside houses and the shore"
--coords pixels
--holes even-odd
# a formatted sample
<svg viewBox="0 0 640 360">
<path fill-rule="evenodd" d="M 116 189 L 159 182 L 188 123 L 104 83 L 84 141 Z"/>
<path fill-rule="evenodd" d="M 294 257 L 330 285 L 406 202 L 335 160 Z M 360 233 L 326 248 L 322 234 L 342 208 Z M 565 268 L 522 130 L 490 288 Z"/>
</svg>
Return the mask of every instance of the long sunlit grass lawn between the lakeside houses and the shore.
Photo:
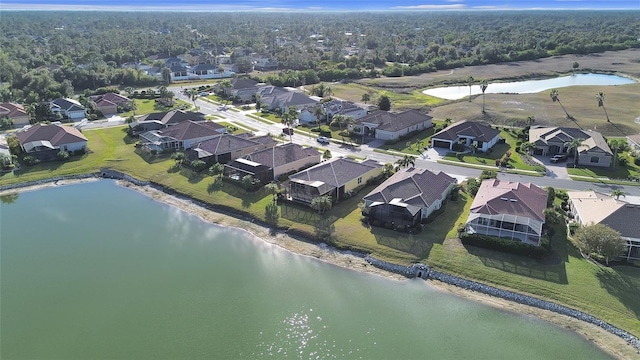
<svg viewBox="0 0 640 360">
<path fill-rule="evenodd" d="M 5 174 L 0 177 L 0 184 L 112 168 L 264 219 L 264 208 L 271 196 L 263 190 L 246 192 L 229 181 L 215 181 L 206 172 L 175 167 L 166 154 L 151 156 L 138 151 L 134 148 L 137 139 L 128 137 L 125 129 L 85 131 L 91 153 L 74 161 L 44 163 L 16 175 Z M 471 205 L 471 197 L 465 193 L 458 201 L 447 202 L 444 212 L 420 234 L 370 227 L 361 221 L 358 203 L 372 189 L 373 185 L 363 188 L 323 215 L 306 206 L 283 203 L 279 225 L 310 235 L 330 236 L 337 246 L 370 252 L 381 259 L 404 264 L 422 261 L 439 270 L 563 303 L 640 335 L 640 269 L 600 268 L 584 260 L 566 241 L 564 225 L 558 225 L 552 238 L 557 261 L 539 263 L 461 245 L 455 232 L 456 225 L 466 221 Z"/>
</svg>

